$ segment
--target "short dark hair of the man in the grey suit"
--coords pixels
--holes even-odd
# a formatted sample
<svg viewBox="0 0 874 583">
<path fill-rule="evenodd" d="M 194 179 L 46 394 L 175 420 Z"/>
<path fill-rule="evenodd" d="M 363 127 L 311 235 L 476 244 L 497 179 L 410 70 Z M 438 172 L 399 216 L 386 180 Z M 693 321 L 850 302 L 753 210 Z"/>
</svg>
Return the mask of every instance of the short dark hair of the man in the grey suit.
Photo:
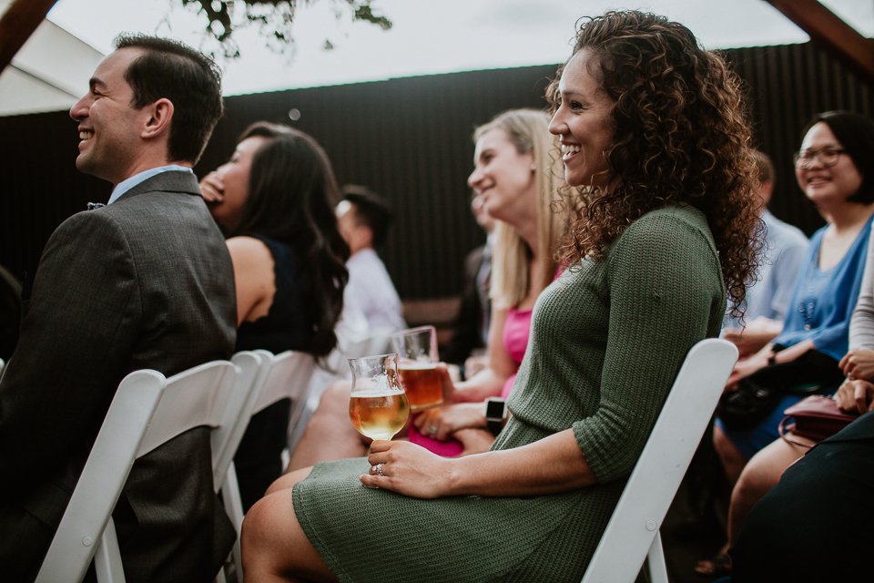
<svg viewBox="0 0 874 583">
<path fill-rule="evenodd" d="M 116 48 L 144 51 L 125 71 L 134 90 L 131 107 L 142 109 L 168 98 L 173 104 L 169 158 L 196 164 L 221 118 L 219 67 L 190 46 L 158 36 L 123 33 L 116 38 Z"/>
</svg>

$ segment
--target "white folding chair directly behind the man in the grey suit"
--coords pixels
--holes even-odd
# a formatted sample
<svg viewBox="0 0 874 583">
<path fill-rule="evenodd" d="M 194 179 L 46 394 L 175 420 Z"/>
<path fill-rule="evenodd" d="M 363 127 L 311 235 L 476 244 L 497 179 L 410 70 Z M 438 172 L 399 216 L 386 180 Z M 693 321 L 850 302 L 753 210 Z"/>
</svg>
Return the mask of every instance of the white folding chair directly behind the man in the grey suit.
<svg viewBox="0 0 874 583">
<path fill-rule="evenodd" d="M 118 386 L 64 517 L 48 549 L 37 583 L 68 583 L 85 577 L 92 558 L 97 580 L 124 583 L 112 521 L 122 488 L 138 457 L 188 429 L 212 427 L 213 465 L 227 444 L 240 399 L 249 392 L 260 357 L 205 363 L 165 379 L 156 371 L 130 373 Z M 245 401 L 245 398 L 242 399 Z M 219 573 L 219 581 L 223 574 Z"/>
</svg>

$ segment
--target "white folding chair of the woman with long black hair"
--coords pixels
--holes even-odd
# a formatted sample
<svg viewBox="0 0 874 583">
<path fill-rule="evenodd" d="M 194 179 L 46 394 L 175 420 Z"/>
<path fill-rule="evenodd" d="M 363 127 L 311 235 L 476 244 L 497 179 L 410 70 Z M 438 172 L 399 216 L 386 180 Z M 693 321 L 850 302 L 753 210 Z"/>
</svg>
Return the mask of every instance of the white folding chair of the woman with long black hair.
<svg viewBox="0 0 874 583">
<path fill-rule="evenodd" d="M 243 414 L 239 416 L 238 423 L 232 430 L 227 459 L 220 463 L 226 464 L 224 480 L 222 480 L 221 496 L 225 503 L 225 511 L 230 521 L 237 529 L 237 542 L 234 543 L 232 556 L 237 568 L 237 578 L 242 580 L 242 555 L 239 546 L 239 533 L 243 525 L 243 504 L 239 496 L 239 484 L 237 482 L 237 469 L 234 467 L 233 457 L 237 446 L 249 425 L 249 418 L 265 409 L 280 399 L 291 399 L 290 426 L 300 417 L 300 410 L 309 392 L 310 378 L 316 368 L 316 361 L 311 354 L 286 351 L 274 356 L 266 350 L 257 350 L 262 360 L 259 373 L 254 381 L 254 390 L 250 396 L 251 403 L 243 407 Z"/>
</svg>

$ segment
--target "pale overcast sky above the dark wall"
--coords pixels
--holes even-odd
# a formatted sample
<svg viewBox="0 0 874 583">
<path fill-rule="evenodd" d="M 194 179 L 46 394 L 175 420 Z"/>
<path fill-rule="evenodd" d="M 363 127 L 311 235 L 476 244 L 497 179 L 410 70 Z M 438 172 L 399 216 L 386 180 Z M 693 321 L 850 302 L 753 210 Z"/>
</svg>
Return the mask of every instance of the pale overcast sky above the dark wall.
<svg viewBox="0 0 874 583">
<path fill-rule="evenodd" d="M 201 50 L 206 16 L 181 0 L 58 0 L 48 18 L 103 53 L 122 31 L 176 37 Z M 301 5 L 304 3 L 301 2 Z M 239 29 L 241 56 L 219 59 L 225 95 L 320 87 L 563 62 L 574 22 L 608 9 L 638 8 L 688 26 L 706 48 L 803 43 L 808 36 L 764 0 L 373 0 L 391 30 L 338 18 L 343 0 L 312 0 L 295 13 L 294 49 L 277 54 L 257 29 Z M 874 36 L 874 0 L 823 0 Z M 326 49 L 326 41 L 333 48 Z"/>
</svg>

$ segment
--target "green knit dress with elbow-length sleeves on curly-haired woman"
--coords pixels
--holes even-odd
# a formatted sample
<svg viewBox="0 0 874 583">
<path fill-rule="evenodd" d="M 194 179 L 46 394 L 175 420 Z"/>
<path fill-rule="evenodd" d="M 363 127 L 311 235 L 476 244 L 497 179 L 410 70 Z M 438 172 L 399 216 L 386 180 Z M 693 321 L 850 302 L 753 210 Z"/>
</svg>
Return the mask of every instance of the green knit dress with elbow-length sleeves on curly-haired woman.
<svg viewBox="0 0 874 583">
<path fill-rule="evenodd" d="M 726 309 L 702 213 L 668 207 L 554 281 L 534 307 L 493 449 L 570 427 L 598 484 L 550 496 L 420 500 L 361 486 L 364 458 L 318 464 L 295 515 L 340 581 L 579 581 L 686 353 Z"/>
</svg>

